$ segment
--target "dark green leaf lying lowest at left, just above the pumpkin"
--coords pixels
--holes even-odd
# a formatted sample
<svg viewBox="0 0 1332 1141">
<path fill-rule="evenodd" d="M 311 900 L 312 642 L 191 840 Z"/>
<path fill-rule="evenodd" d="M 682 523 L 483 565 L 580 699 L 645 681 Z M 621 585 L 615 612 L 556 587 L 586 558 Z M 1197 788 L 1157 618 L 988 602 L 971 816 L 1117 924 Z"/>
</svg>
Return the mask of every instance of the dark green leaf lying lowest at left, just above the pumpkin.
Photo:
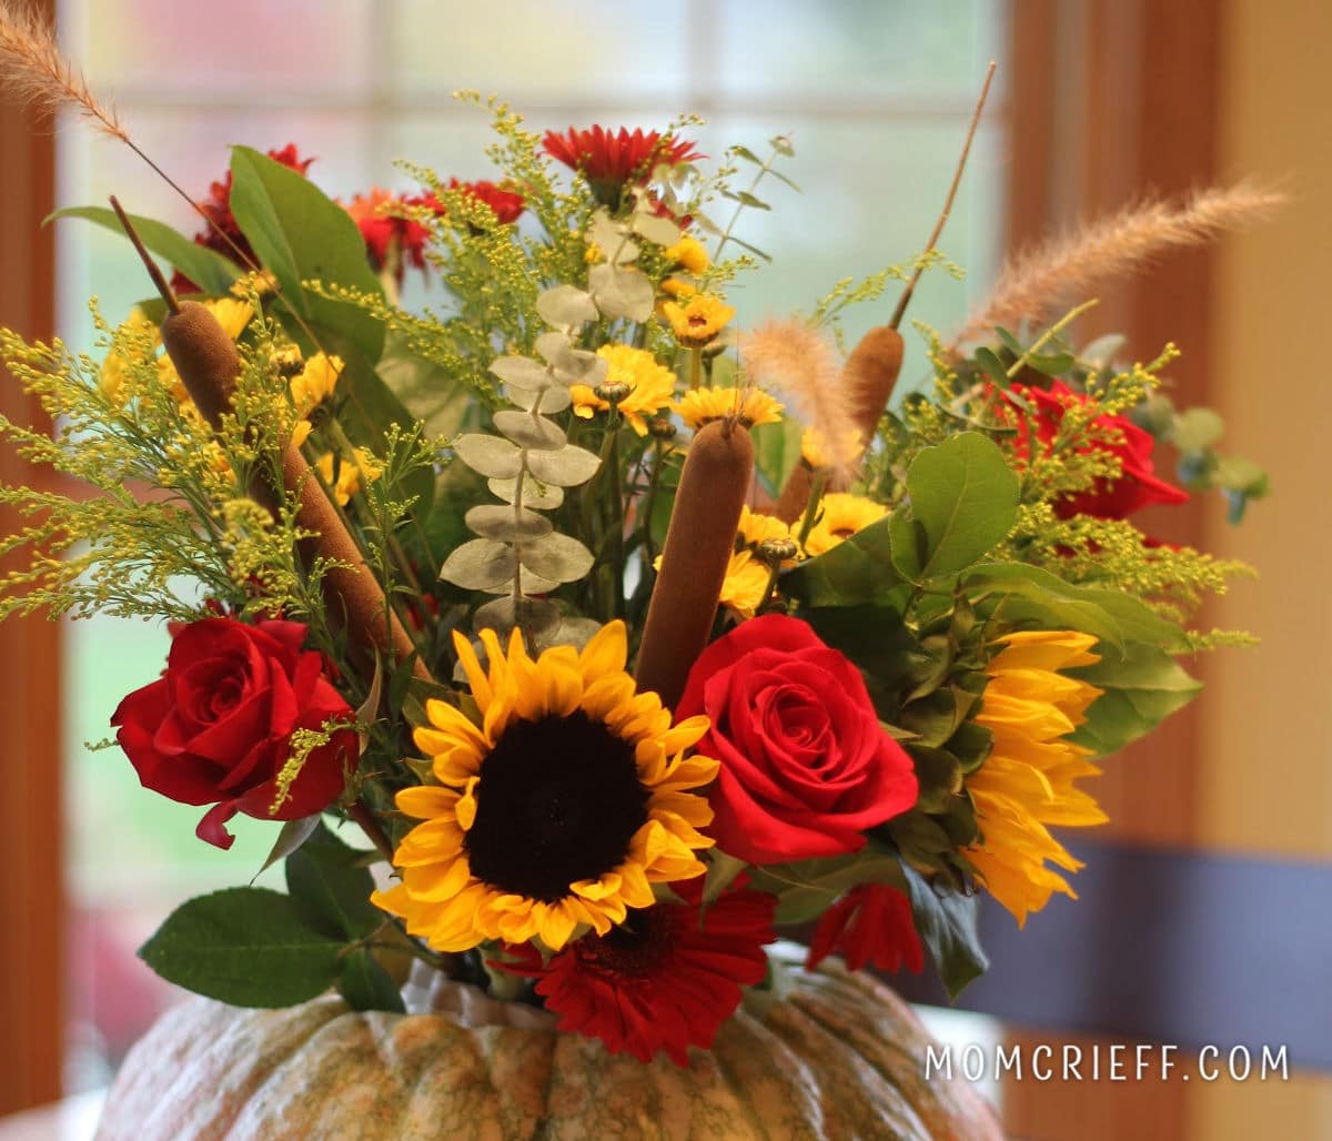
<svg viewBox="0 0 1332 1141">
<path fill-rule="evenodd" d="M 225 888 L 176 908 L 139 956 L 168 983 L 233 1007 L 294 1007 L 333 985 L 342 948 L 289 896 Z"/>
</svg>

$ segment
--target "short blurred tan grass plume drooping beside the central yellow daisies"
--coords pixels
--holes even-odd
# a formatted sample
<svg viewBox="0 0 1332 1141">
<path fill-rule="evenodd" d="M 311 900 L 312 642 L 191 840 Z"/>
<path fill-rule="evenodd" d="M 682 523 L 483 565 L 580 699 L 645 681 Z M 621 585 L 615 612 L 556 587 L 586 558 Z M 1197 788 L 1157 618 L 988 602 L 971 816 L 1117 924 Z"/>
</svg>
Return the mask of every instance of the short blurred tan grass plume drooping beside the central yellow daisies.
<svg viewBox="0 0 1332 1141">
<path fill-rule="evenodd" d="M 831 341 L 797 318 L 766 321 L 741 341 L 741 366 L 750 383 L 791 399 L 806 427 L 826 441 L 831 478 L 850 482 L 866 441 L 852 443 L 855 407 Z"/>
</svg>

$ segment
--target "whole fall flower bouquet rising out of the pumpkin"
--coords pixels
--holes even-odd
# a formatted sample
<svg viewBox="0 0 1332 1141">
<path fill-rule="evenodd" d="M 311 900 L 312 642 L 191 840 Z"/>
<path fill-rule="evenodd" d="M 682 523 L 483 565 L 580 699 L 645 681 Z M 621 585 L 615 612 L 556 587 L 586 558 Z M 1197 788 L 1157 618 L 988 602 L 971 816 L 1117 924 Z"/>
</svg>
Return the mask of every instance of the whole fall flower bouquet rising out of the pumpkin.
<svg viewBox="0 0 1332 1141">
<path fill-rule="evenodd" d="M 168 620 L 115 743 L 201 841 L 245 813 L 285 861 L 286 893 L 192 900 L 144 960 L 237 1005 L 388 1011 L 414 960 L 682 1065 L 781 989 L 783 928 L 810 967 L 928 959 L 956 993 L 979 897 L 1022 924 L 1072 895 L 1087 778 L 1195 695 L 1176 658 L 1243 640 L 1189 622 L 1245 569 L 1134 515 L 1265 491 L 1162 394 L 1173 346 L 1124 363 L 1050 310 L 1107 242 L 1119 269 L 1267 198 L 1046 250 L 952 343 L 918 326 L 928 375 L 890 403 L 938 230 L 741 330 L 766 254 L 737 224 L 791 140 L 709 169 L 691 118 L 541 136 L 485 105 L 494 181 L 412 166 L 418 193 L 340 204 L 296 146 L 237 146 L 193 240 L 64 210 L 124 228 L 160 297 L 95 306 L 97 357 L 0 333 L 56 418 L 0 429 L 81 485 L 0 489 L 32 553 L 0 616 Z M 843 358 L 839 316 L 890 285 Z"/>
</svg>

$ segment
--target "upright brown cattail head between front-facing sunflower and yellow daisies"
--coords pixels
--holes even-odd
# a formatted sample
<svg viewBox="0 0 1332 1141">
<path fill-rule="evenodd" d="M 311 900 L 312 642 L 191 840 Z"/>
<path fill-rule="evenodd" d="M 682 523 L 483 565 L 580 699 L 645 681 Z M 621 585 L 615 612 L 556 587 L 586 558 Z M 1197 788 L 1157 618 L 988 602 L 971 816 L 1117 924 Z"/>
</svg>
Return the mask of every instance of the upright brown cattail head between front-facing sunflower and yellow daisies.
<svg viewBox="0 0 1332 1141">
<path fill-rule="evenodd" d="M 638 688 L 667 708 L 707 646 L 741 509 L 754 473 L 754 442 L 739 421 L 719 419 L 694 435 L 675 493 L 662 566 L 638 651 Z"/>
</svg>

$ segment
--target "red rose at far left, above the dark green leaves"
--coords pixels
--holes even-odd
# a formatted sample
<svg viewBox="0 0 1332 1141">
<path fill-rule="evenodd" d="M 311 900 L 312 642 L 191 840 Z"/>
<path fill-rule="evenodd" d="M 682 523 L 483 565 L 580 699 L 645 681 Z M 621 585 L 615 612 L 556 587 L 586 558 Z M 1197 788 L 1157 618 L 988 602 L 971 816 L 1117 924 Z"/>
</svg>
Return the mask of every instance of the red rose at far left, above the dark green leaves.
<svg viewBox="0 0 1332 1141">
<path fill-rule="evenodd" d="M 196 829 L 209 844 L 232 845 L 224 825 L 237 812 L 294 820 L 342 792 L 357 756 L 352 730 L 310 751 L 272 811 L 292 732 L 352 715 L 324 676 L 322 655 L 302 651 L 304 640 L 300 622 L 205 618 L 182 626 L 163 676 L 129 694 L 111 719 L 145 788 L 181 804 L 213 805 Z"/>
</svg>

